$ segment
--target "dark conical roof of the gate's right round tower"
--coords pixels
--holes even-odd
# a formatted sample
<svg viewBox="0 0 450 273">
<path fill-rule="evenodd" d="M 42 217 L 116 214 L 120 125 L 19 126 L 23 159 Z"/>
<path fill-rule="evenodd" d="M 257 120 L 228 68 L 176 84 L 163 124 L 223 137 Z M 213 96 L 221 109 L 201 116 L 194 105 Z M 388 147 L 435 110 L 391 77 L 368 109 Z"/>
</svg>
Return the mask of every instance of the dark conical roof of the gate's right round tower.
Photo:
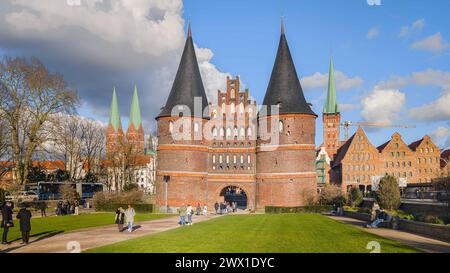
<svg viewBox="0 0 450 273">
<path fill-rule="evenodd" d="M 303 95 L 302 86 L 298 80 L 297 71 L 292 61 L 291 52 L 284 34 L 284 26 L 281 26 L 280 44 L 277 57 L 270 76 L 263 105 L 268 107 L 279 105 L 280 114 L 311 114 L 316 115 Z M 316 115 L 317 116 L 317 115 Z"/>
</svg>

